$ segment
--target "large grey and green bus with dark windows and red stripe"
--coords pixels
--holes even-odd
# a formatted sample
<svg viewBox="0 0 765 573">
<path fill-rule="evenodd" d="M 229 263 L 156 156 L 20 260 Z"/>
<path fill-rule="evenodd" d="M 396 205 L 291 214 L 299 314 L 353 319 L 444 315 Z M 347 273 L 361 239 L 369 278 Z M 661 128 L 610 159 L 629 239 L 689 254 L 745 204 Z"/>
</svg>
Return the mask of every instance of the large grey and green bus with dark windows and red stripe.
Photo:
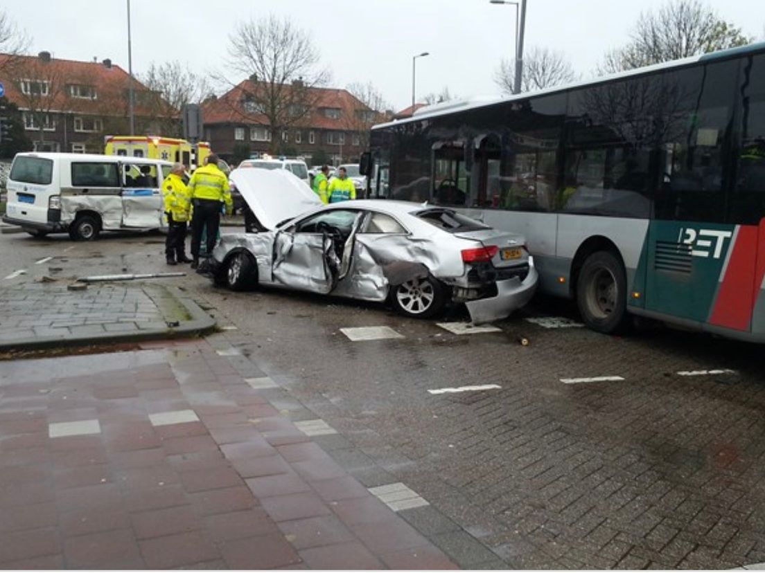
<svg viewBox="0 0 765 573">
<path fill-rule="evenodd" d="M 765 342 L 765 44 L 376 125 L 369 196 L 525 235 L 540 290 Z"/>
</svg>

